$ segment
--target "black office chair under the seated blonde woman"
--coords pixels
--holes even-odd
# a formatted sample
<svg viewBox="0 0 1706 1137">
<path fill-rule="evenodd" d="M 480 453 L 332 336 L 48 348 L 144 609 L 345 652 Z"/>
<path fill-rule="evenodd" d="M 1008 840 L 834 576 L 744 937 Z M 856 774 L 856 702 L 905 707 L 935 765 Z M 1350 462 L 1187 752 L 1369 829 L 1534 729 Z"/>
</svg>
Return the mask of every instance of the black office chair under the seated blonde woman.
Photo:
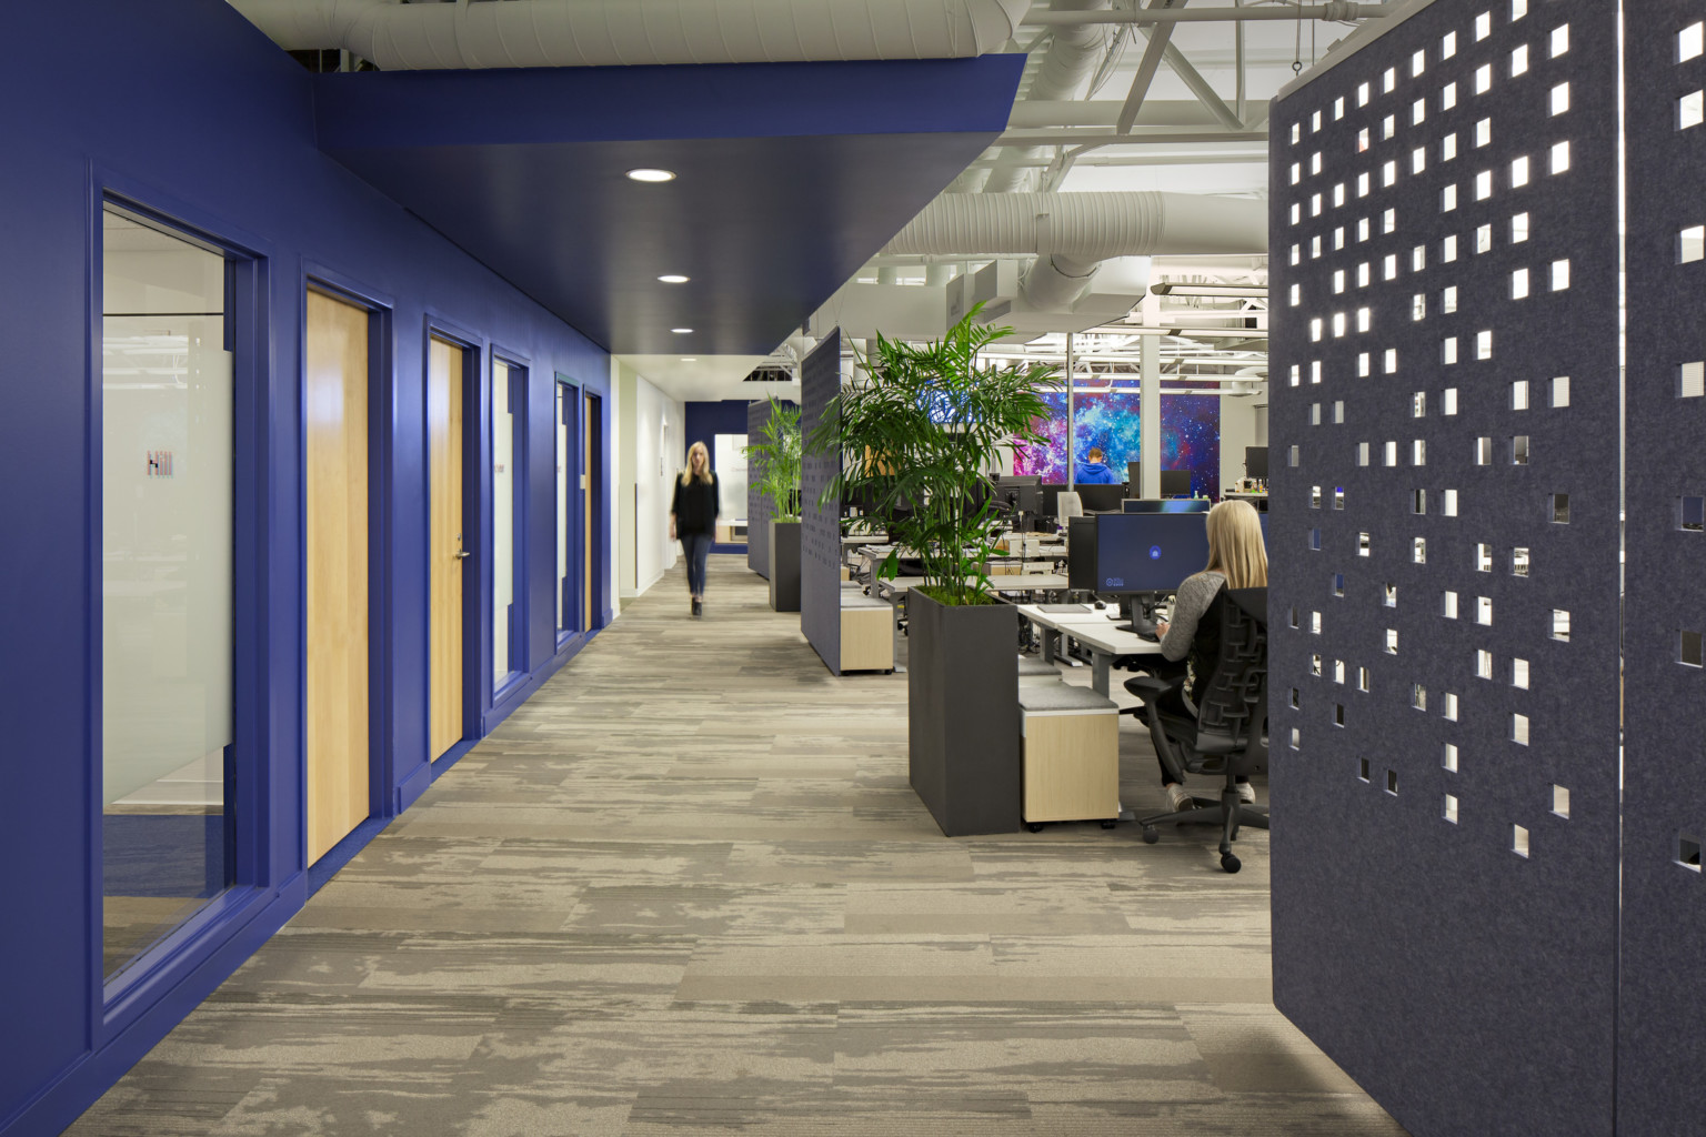
<svg viewBox="0 0 1706 1137">
<path fill-rule="evenodd" d="M 1218 801 L 1192 798 L 1189 810 L 1138 818 L 1143 840 L 1155 844 L 1155 827 L 1163 822 L 1220 825 L 1220 868 L 1237 873 L 1242 863 L 1232 852 L 1232 842 L 1239 839 L 1239 828 L 1268 828 L 1268 810 L 1239 798 L 1237 788 L 1240 776 L 1247 777 L 1268 760 L 1268 590 L 1221 588 L 1203 614 L 1203 624 L 1218 624 L 1220 656 L 1198 716 L 1192 719 L 1160 709 L 1162 695 L 1182 685 L 1182 677 L 1165 680 L 1150 675 L 1126 680 L 1126 690 L 1143 699 L 1143 706 L 1121 714 L 1145 718 L 1155 752 L 1175 781 L 1184 782 L 1186 774 L 1221 774 L 1227 779 Z"/>
</svg>

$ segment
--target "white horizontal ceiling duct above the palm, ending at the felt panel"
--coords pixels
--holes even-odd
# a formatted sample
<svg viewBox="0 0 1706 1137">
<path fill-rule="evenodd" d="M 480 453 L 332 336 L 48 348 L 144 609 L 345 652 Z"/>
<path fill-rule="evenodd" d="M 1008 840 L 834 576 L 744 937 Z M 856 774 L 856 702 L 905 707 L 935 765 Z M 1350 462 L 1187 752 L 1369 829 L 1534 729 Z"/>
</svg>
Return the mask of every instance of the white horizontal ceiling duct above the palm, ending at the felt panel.
<svg viewBox="0 0 1706 1137">
<path fill-rule="evenodd" d="M 1179 193 L 942 194 L 884 247 L 891 256 L 1036 254 L 1025 300 L 1070 309 L 1121 256 L 1264 254 L 1268 206 Z"/>
</svg>

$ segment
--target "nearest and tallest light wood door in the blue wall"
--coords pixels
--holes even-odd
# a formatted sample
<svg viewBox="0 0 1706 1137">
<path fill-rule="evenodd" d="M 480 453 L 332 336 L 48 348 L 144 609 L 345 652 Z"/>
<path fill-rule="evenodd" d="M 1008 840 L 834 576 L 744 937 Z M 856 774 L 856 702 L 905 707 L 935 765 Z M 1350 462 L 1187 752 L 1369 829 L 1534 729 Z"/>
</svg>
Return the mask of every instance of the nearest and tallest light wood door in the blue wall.
<svg viewBox="0 0 1706 1137">
<path fill-rule="evenodd" d="M 367 310 L 307 293 L 302 389 L 310 864 L 368 813 L 367 326 Z"/>
</svg>

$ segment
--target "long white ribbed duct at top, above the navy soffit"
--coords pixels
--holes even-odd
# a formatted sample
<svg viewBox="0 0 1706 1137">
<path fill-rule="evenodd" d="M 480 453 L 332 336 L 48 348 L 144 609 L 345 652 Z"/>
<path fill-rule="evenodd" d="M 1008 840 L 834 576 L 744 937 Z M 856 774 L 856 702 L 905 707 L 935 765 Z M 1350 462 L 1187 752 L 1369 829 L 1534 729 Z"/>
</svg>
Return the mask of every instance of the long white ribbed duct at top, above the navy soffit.
<svg viewBox="0 0 1706 1137">
<path fill-rule="evenodd" d="M 343 48 L 384 70 L 960 58 L 998 51 L 1030 7 L 1030 0 L 230 3 L 281 48 Z"/>
</svg>

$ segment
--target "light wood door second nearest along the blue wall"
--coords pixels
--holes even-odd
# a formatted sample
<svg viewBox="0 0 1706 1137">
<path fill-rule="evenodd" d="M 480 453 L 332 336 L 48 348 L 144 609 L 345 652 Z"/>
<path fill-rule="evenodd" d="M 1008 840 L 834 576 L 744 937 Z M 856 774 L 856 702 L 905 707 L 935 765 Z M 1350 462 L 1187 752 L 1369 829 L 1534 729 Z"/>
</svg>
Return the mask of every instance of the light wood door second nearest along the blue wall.
<svg viewBox="0 0 1706 1137">
<path fill-rule="evenodd" d="M 426 462 L 432 527 L 430 750 L 440 757 L 462 740 L 462 348 L 430 341 L 426 361 Z M 473 537 L 473 534 L 467 534 Z"/>
</svg>

